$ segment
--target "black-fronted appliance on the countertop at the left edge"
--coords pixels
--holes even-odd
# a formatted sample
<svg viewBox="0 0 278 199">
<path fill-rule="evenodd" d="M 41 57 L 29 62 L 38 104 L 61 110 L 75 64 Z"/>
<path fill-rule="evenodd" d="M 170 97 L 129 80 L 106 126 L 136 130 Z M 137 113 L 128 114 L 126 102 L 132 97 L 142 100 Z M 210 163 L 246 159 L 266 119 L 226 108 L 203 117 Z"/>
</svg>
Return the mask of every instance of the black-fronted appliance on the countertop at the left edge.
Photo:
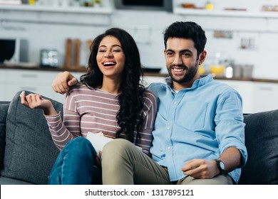
<svg viewBox="0 0 278 199">
<path fill-rule="evenodd" d="M 0 64 L 28 61 L 28 42 L 22 38 L 0 38 Z"/>
</svg>

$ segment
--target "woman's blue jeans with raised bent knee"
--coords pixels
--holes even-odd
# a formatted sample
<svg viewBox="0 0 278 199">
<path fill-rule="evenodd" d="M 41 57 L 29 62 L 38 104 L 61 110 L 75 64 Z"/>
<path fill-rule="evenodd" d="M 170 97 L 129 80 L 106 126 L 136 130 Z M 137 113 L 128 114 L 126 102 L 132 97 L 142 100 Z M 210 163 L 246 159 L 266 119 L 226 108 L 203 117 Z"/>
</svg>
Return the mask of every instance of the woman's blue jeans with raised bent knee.
<svg viewBox="0 0 278 199">
<path fill-rule="evenodd" d="M 94 166 L 96 150 L 88 139 L 68 141 L 58 155 L 48 177 L 50 185 L 101 184 L 101 168 Z"/>
</svg>

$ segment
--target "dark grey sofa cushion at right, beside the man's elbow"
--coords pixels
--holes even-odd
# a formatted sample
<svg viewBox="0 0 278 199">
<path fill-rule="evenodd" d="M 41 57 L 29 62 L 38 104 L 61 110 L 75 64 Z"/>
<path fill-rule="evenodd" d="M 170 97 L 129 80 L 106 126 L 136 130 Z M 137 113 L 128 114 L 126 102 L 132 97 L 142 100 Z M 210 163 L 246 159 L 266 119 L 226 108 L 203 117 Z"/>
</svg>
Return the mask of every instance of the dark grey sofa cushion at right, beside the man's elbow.
<svg viewBox="0 0 278 199">
<path fill-rule="evenodd" d="M 278 110 L 244 115 L 247 164 L 241 184 L 278 184 Z"/>
</svg>

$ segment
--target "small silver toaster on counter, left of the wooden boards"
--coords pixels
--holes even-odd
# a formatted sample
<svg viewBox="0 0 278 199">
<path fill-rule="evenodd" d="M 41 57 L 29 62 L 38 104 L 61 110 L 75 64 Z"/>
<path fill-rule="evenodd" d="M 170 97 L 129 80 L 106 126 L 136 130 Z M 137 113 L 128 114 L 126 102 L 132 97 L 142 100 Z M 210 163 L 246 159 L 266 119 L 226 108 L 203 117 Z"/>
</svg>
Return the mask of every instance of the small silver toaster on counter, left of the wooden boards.
<svg viewBox="0 0 278 199">
<path fill-rule="evenodd" d="M 58 67 L 58 51 L 52 48 L 41 49 L 41 67 Z"/>
</svg>

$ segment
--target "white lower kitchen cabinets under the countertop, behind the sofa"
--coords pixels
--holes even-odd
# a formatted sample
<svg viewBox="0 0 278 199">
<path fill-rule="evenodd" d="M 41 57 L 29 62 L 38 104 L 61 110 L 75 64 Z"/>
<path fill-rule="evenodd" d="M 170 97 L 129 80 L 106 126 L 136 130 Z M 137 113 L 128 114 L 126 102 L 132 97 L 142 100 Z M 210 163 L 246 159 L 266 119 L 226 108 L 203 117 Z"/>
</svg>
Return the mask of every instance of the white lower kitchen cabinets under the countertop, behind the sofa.
<svg viewBox="0 0 278 199">
<path fill-rule="evenodd" d="M 60 95 L 52 90 L 54 78 L 60 70 L 49 69 L 19 69 L 0 68 L 0 101 L 10 101 L 16 92 L 29 90 L 37 92 L 58 102 L 63 103 L 65 95 Z M 71 72 L 78 80 L 82 72 Z M 143 85 L 148 86 L 152 82 L 165 82 L 166 74 L 145 74 Z M 278 82 L 272 80 L 227 80 L 215 78 L 216 81 L 230 85 L 242 96 L 242 109 L 244 113 L 264 112 L 278 109 Z"/>
</svg>

